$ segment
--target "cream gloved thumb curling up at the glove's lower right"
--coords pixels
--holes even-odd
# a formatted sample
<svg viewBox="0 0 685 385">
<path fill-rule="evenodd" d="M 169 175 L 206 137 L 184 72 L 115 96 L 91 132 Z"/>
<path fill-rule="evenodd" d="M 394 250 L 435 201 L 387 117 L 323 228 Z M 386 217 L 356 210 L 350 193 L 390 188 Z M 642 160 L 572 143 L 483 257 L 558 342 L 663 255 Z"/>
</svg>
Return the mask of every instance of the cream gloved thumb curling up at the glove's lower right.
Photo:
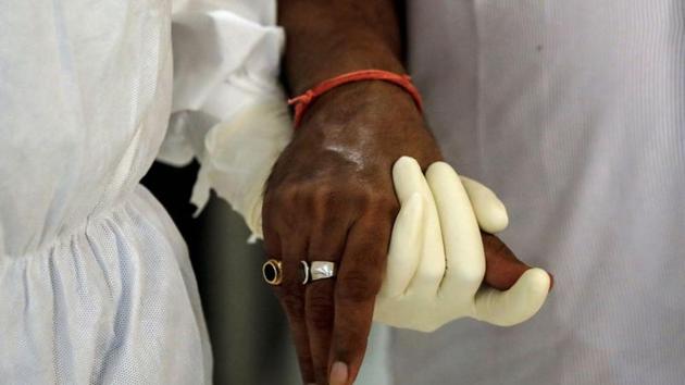
<svg viewBox="0 0 685 385">
<path fill-rule="evenodd" d="M 543 307 L 551 280 L 541 269 L 530 269 L 507 291 L 483 287 L 475 297 L 474 318 L 499 326 L 524 322 Z"/>
</svg>

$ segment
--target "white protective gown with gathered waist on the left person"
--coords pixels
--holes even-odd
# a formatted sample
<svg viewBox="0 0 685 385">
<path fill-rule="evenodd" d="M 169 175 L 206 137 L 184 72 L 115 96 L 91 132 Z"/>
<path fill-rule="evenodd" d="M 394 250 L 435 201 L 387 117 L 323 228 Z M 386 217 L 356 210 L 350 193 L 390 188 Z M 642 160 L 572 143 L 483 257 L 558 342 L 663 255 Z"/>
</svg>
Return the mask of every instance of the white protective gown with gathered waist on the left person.
<svg viewBox="0 0 685 385">
<path fill-rule="evenodd" d="M 2 384 L 211 382 L 186 246 L 139 181 L 174 62 L 173 110 L 229 120 L 274 96 L 283 33 L 274 1 L 173 7 L 174 57 L 166 0 L 0 1 Z"/>
</svg>

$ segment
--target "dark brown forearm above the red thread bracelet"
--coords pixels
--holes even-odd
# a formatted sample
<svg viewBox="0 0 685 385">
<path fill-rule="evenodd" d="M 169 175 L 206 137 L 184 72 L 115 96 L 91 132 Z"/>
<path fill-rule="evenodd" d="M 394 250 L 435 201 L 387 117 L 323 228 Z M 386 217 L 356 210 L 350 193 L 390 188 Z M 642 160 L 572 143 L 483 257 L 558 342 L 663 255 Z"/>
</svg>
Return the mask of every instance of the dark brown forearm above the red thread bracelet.
<svg viewBox="0 0 685 385">
<path fill-rule="evenodd" d="M 350 71 L 404 72 L 395 0 L 281 0 L 278 18 L 291 95 Z"/>
</svg>

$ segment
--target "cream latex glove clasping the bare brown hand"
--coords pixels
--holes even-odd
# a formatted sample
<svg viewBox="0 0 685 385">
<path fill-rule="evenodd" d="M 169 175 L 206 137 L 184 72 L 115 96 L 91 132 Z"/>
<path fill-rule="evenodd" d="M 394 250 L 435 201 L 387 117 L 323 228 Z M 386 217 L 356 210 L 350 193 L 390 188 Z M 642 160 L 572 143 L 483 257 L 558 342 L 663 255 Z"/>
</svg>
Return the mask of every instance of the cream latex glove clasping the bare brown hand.
<svg viewBox="0 0 685 385">
<path fill-rule="evenodd" d="M 424 177 L 416 161 L 407 157 L 396 162 L 393 178 L 401 210 L 375 321 L 431 332 L 465 316 L 508 326 L 539 310 L 550 285 L 541 269 L 526 271 L 507 291 L 481 287 L 485 256 L 478 224 L 497 233 L 508 222 L 493 191 L 460 181 L 444 162 L 432 164 Z"/>
</svg>

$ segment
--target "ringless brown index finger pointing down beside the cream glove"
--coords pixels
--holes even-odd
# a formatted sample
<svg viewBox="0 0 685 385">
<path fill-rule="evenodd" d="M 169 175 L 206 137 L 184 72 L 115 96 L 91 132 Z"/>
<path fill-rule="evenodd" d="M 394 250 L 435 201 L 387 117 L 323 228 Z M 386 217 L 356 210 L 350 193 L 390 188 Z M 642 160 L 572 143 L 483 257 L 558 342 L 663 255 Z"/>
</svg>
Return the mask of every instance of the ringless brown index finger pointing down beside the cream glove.
<svg viewBox="0 0 685 385">
<path fill-rule="evenodd" d="M 347 381 L 332 378 L 332 384 L 351 384 L 361 368 L 388 251 L 390 219 L 387 222 L 362 218 L 348 234 L 335 287 L 329 358 L 334 371 L 336 362 L 347 365 Z"/>
</svg>

